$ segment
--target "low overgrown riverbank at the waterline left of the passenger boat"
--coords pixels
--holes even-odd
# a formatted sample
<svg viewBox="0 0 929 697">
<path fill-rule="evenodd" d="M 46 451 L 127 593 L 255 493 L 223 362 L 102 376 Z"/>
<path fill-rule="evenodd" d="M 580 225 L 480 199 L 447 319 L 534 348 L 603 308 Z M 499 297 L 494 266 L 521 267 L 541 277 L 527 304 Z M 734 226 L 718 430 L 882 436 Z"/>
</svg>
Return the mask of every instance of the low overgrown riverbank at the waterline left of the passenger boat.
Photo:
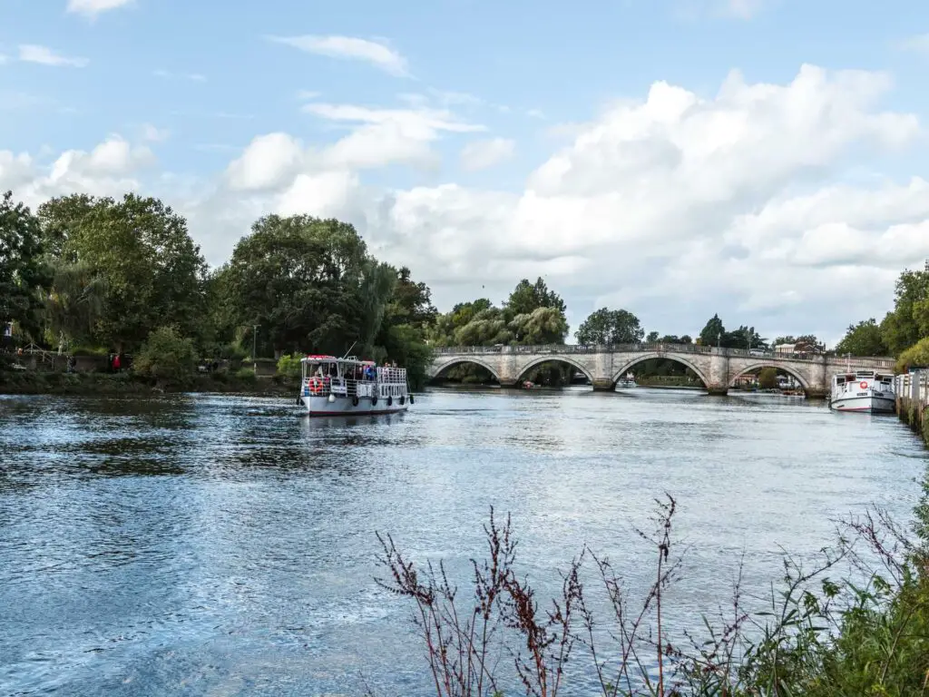
<svg viewBox="0 0 929 697">
<path fill-rule="evenodd" d="M 236 392 L 258 395 L 295 395 L 296 383 L 280 377 L 256 378 L 241 374 L 190 375 L 177 383 L 156 384 L 131 373 L 0 372 L 0 394 L 156 395 L 165 392 Z"/>
</svg>

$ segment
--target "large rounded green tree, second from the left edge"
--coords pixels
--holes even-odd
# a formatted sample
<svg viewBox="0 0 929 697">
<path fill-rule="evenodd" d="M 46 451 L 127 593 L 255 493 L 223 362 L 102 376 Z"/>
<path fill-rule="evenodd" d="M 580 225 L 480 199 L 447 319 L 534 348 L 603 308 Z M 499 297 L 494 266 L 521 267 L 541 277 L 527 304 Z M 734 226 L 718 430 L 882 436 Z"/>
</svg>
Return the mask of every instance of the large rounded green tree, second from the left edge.
<svg viewBox="0 0 929 697">
<path fill-rule="evenodd" d="M 92 341 L 131 350 L 167 323 L 196 335 L 206 265 L 187 221 L 170 206 L 133 193 L 119 201 L 74 195 L 52 199 L 38 213 L 59 270 L 80 265 L 88 283 L 105 287 Z"/>
</svg>

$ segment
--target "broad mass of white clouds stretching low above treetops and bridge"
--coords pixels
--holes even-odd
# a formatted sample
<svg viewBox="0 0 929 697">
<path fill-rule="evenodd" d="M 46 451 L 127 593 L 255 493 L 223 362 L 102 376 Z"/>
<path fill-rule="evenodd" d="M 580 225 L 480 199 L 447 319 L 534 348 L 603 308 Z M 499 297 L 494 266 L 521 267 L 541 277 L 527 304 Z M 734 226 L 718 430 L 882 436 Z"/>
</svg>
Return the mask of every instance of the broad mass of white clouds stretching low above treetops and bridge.
<svg viewBox="0 0 929 697">
<path fill-rule="evenodd" d="M 348 132 L 314 143 L 259 136 L 219 181 L 147 186 L 190 217 L 211 263 L 263 214 L 331 215 L 380 258 L 410 266 L 446 309 L 543 275 L 575 325 L 609 305 L 662 333 L 693 334 L 719 312 L 763 335 L 834 340 L 849 322 L 881 317 L 899 271 L 929 256 L 925 176 L 836 183 L 850 156 L 863 164 L 862 153 L 911 148 L 921 135 L 915 116 L 882 109 L 891 87 L 881 73 L 813 66 L 778 85 L 733 73 L 711 98 L 659 82 L 572 126 L 522 191 L 374 186 L 366 169 L 428 164 L 439 138 L 482 126 L 422 105 L 310 104 Z M 136 188 L 149 161 L 120 138 L 48 167 L 0 153 L 0 187 L 19 181 L 32 198 L 116 192 Z"/>
</svg>

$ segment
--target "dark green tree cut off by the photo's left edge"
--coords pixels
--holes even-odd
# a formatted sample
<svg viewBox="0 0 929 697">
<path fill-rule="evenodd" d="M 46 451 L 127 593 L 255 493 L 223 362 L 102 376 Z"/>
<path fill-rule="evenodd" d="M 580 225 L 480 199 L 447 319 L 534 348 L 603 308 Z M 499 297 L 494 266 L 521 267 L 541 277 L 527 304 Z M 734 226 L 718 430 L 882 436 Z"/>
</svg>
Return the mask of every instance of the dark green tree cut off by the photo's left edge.
<svg viewBox="0 0 929 697">
<path fill-rule="evenodd" d="M 36 291 L 48 281 L 41 260 L 42 230 L 38 218 L 13 192 L 0 198 L 0 323 L 18 322 L 36 331 L 41 301 Z"/>
</svg>

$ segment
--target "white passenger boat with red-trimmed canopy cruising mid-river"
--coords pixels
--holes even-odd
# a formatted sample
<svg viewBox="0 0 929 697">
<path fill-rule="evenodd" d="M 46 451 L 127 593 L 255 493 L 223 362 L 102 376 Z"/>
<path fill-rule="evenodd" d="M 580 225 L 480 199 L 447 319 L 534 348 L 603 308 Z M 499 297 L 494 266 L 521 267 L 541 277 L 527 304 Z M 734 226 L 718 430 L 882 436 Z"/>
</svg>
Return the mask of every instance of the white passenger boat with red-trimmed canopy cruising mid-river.
<svg viewBox="0 0 929 697">
<path fill-rule="evenodd" d="M 396 414 L 412 404 L 406 368 L 378 367 L 353 356 L 307 356 L 300 362 L 298 401 L 310 416 Z"/>
</svg>

